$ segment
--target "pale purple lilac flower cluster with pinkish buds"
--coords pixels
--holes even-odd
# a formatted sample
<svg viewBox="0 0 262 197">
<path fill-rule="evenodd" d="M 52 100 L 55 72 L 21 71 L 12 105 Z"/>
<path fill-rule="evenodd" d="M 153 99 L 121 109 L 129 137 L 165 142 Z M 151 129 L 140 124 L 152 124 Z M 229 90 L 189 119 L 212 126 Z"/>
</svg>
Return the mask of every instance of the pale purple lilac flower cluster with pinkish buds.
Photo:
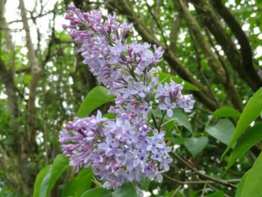
<svg viewBox="0 0 262 197">
<path fill-rule="evenodd" d="M 161 47 L 153 46 L 152 51 L 148 43 L 126 44 L 131 24 L 117 23 L 115 15 L 102 20 L 99 11 L 82 13 L 75 6 L 68 8 L 65 18 L 70 25 L 63 28 L 79 46 L 83 63 L 116 96 L 109 109 L 116 118 L 102 118 L 99 111 L 96 117 L 75 117 L 60 132 L 63 153 L 77 171 L 91 166 L 105 188 L 138 182 L 143 176 L 162 181 L 161 174 L 172 162 L 171 148 L 165 144 L 160 125 L 148 123 L 154 106 L 150 101 L 159 100 L 159 109 L 171 117 L 175 107 L 192 110 L 192 95 L 182 95 L 183 83 L 171 80 L 162 85 L 153 75 L 153 66 L 163 56 Z"/>
</svg>

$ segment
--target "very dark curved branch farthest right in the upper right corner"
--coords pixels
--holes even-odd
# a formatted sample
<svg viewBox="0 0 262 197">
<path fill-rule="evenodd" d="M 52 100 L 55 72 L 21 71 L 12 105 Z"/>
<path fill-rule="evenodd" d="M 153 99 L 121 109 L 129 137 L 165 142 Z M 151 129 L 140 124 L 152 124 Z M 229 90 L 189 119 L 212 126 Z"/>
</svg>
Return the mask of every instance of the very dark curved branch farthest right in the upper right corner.
<svg viewBox="0 0 262 197">
<path fill-rule="evenodd" d="M 236 21 L 234 15 L 231 14 L 229 9 L 226 8 L 221 0 L 214 0 L 212 2 L 214 3 L 214 8 L 224 19 L 229 28 L 231 28 L 234 36 L 236 36 L 236 39 L 241 46 L 241 60 L 243 62 L 245 75 L 247 78 L 249 78 L 249 83 L 251 83 L 253 90 L 258 90 L 258 88 L 262 86 L 262 79 L 258 75 L 256 69 L 253 67 L 253 53 L 246 33 L 244 33 L 239 22 Z"/>
</svg>

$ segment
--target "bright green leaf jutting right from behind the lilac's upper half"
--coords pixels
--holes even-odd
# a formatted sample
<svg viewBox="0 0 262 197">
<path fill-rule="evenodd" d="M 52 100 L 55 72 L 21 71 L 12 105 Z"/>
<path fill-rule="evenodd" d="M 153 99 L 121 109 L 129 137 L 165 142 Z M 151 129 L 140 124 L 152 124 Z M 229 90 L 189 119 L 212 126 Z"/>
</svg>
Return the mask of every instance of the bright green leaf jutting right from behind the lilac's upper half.
<svg viewBox="0 0 262 197">
<path fill-rule="evenodd" d="M 185 90 L 200 91 L 200 89 L 198 89 L 198 87 L 195 87 L 195 85 L 192 85 L 190 82 L 182 80 L 181 78 L 175 77 L 175 76 L 170 75 L 168 73 L 160 72 L 160 73 L 154 73 L 154 75 L 159 76 L 159 81 L 170 82 L 170 79 L 172 79 L 174 82 L 177 82 L 177 83 L 185 82 L 185 85 L 184 85 Z"/>
</svg>

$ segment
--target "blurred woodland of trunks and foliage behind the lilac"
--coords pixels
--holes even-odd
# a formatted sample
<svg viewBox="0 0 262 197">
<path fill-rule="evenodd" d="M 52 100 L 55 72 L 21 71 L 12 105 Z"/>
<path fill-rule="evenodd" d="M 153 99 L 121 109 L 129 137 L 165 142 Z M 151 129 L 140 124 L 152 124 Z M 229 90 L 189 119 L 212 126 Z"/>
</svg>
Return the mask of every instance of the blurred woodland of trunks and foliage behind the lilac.
<svg viewBox="0 0 262 197">
<path fill-rule="evenodd" d="M 212 117 L 213 112 L 224 106 L 241 112 L 262 86 L 262 1 L 0 0 L 0 196 L 32 196 L 36 175 L 60 153 L 59 131 L 98 85 L 61 28 L 68 4 L 103 14 L 114 11 L 120 21 L 132 22 L 129 41 L 165 49 L 158 70 L 200 89 L 192 91 L 197 102 L 188 121 L 178 117 L 178 127 L 170 128 L 180 132 L 168 138 L 180 156 L 222 179 L 240 179 L 250 169 L 261 144 L 223 174 L 228 158 L 220 161 L 220 156 L 226 144 L 210 133 L 217 129 L 230 139 L 237 115 L 223 120 Z M 191 136 L 207 141 L 192 142 Z M 74 176 L 73 170 L 63 174 L 52 196 L 60 196 Z M 198 179 L 177 161 L 167 176 Z M 146 195 L 163 196 L 180 185 L 165 177 L 163 183 L 151 182 Z M 218 184 L 182 184 L 175 195 L 204 196 L 203 190 L 222 190 L 228 196 L 235 192 Z"/>
</svg>

